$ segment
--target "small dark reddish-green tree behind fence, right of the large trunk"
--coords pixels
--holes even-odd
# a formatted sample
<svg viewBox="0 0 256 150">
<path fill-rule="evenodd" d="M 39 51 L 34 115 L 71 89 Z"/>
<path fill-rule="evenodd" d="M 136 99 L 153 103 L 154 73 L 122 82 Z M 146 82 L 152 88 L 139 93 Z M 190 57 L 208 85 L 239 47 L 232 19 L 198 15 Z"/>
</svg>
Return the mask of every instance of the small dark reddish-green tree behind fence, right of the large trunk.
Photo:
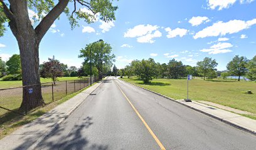
<svg viewBox="0 0 256 150">
<path fill-rule="evenodd" d="M 56 60 L 54 56 L 53 58 L 48 58 L 48 61 L 43 63 L 43 69 L 41 69 L 40 74 L 42 78 L 51 78 L 55 84 L 57 77 L 63 76 L 60 61 Z"/>
</svg>

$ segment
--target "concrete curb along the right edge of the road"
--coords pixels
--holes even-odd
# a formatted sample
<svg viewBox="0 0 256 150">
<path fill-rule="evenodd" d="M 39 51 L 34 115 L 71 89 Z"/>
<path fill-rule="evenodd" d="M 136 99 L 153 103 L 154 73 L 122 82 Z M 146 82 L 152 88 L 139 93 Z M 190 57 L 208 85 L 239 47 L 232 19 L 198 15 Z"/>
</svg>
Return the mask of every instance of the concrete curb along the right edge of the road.
<svg viewBox="0 0 256 150">
<path fill-rule="evenodd" d="M 121 81 L 124 81 L 124 80 L 122 80 L 122 79 L 120 79 L 120 80 L 121 80 Z M 128 83 L 128 82 L 126 82 L 126 81 L 124 81 L 124 82 L 125 82 L 125 83 Z M 133 86 L 137 86 L 136 84 L 132 84 L 132 83 L 129 83 L 129 84 L 131 84 L 131 85 L 133 85 Z M 205 111 L 201 111 L 200 109 L 193 108 L 193 107 L 188 106 L 188 105 L 186 105 L 186 104 L 183 104 L 183 103 L 181 103 L 181 102 L 179 102 L 179 101 L 176 101 L 176 100 L 173 99 L 173 98 L 169 98 L 168 96 L 165 96 L 165 95 L 163 95 L 163 94 L 160 94 L 160 93 L 151 91 L 150 89 L 142 88 L 141 86 L 137 86 L 137 87 L 138 87 L 138 88 L 141 88 L 141 89 L 144 89 L 144 90 L 146 90 L 146 91 L 149 91 L 149 92 L 151 92 L 151 93 L 157 94 L 158 96 L 161 96 L 161 97 L 163 97 L 163 98 L 169 99 L 169 100 L 171 100 L 171 101 L 173 101 L 173 102 L 175 102 L 175 103 L 178 103 L 178 104 L 181 104 L 181 105 L 183 105 L 183 106 L 186 106 L 187 108 L 190 108 L 190 109 L 193 109 L 193 110 L 195 110 L 195 111 L 198 111 L 198 112 L 200 112 L 200 113 L 202 113 L 202 114 L 205 114 L 205 115 L 207 115 L 207 116 L 210 116 L 211 118 L 217 119 L 217 120 L 219 120 L 219 121 L 221 121 L 221 122 L 223 122 L 223 123 L 226 123 L 226 124 L 228 124 L 228 125 L 230 125 L 230 126 L 233 126 L 233 127 L 237 128 L 237 129 L 241 129 L 242 131 L 246 131 L 247 133 L 250 133 L 250 134 L 253 134 L 254 136 L 256 136 L 256 132 L 255 132 L 255 131 L 252 131 L 252 130 L 247 129 L 247 128 L 243 127 L 243 126 L 240 126 L 239 124 L 232 123 L 232 122 L 227 121 L 227 120 L 225 120 L 225 119 L 219 118 L 218 116 L 215 116 L 215 115 L 213 115 L 213 114 L 209 114 L 209 113 L 206 113 Z M 189 103 L 189 102 L 188 102 L 188 103 Z M 190 102 L 190 103 L 191 103 L 191 102 Z"/>
</svg>

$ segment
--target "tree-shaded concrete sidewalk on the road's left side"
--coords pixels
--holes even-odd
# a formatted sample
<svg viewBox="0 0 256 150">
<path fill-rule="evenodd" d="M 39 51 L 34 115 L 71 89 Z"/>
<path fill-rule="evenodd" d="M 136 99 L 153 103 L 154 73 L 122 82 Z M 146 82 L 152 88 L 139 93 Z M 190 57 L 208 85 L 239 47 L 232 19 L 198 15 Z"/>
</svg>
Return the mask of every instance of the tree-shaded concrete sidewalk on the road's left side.
<svg viewBox="0 0 256 150">
<path fill-rule="evenodd" d="M 100 84 L 94 84 L 32 123 L 4 137 L 0 140 L 0 149 L 35 149 L 36 145 L 58 127 Z"/>
</svg>

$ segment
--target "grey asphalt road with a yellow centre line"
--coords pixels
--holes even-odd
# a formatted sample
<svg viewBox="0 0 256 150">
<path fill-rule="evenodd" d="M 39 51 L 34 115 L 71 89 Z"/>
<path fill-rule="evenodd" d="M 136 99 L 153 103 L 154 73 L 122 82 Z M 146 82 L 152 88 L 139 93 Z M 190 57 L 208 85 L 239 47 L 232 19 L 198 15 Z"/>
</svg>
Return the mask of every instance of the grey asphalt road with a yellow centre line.
<svg viewBox="0 0 256 150">
<path fill-rule="evenodd" d="M 256 149 L 256 136 L 112 77 L 36 149 Z"/>
</svg>

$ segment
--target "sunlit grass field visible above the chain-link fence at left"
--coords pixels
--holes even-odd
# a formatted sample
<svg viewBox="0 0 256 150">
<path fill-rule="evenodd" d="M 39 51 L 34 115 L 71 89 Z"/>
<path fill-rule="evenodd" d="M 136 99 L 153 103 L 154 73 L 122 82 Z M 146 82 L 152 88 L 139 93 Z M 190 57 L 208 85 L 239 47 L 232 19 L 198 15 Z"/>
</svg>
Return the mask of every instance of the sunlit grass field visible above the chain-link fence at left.
<svg viewBox="0 0 256 150">
<path fill-rule="evenodd" d="M 58 78 L 58 81 L 70 81 L 70 80 L 78 80 L 78 77 L 62 77 Z M 41 83 L 51 83 L 50 78 L 41 78 Z M 22 86 L 22 81 L 1 81 L 0 79 L 0 89 L 6 88 L 17 88 Z"/>
</svg>

